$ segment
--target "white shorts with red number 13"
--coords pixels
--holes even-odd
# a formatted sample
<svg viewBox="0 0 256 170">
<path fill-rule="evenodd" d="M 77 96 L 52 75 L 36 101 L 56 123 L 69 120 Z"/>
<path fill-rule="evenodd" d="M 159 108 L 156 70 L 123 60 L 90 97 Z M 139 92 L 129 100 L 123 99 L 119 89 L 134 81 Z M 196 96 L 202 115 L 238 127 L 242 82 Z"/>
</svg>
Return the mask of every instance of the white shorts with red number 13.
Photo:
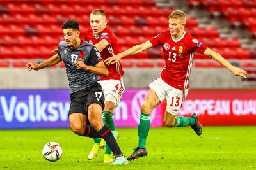
<svg viewBox="0 0 256 170">
<path fill-rule="evenodd" d="M 183 94 L 184 90 L 176 89 L 168 85 L 161 78 L 154 80 L 150 83 L 149 87 L 154 90 L 161 102 L 166 99 L 166 111 L 172 115 L 177 115 L 177 113 L 179 113 L 182 102 L 188 95 L 188 89 L 186 89 L 185 94 Z M 185 96 L 184 99 L 183 96 Z"/>
</svg>

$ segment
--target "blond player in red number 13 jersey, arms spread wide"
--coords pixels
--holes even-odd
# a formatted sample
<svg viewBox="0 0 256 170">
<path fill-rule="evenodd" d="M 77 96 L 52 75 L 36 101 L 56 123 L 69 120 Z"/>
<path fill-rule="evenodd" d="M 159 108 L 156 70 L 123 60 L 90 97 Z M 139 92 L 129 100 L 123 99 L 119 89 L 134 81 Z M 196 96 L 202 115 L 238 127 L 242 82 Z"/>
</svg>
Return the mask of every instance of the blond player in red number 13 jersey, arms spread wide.
<svg viewBox="0 0 256 170">
<path fill-rule="evenodd" d="M 190 125 L 198 136 L 202 134 L 202 125 L 198 121 L 198 115 L 193 113 L 191 117 L 177 116 L 182 101 L 186 98 L 189 88 L 189 75 L 195 52 L 202 53 L 225 66 L 235 76 L 246 78 L 246 71 L 232 66 L 219 53 L 214 52 L 202 42 L 193 38 L 184 30 L 186 14 L 183 11 L 173 11 L 169 16 L 169 29 L 149 41 L 133 46 L 114 57 L 105 60 L 105 64 L 115 64 L 123 57 L 136 55 L 157 45 L 163 46 L 166 66 L 157 78 L 150 83 L 150 90 L 141 106 L 140 123 L 138 125 L 138 146 L 128 160 L 147 156 L 146 139 L 150 129 L 150 112 L 165 99 L 167 101 L 164 114 L 166 127 L 185 127 Z"/>
</svg>

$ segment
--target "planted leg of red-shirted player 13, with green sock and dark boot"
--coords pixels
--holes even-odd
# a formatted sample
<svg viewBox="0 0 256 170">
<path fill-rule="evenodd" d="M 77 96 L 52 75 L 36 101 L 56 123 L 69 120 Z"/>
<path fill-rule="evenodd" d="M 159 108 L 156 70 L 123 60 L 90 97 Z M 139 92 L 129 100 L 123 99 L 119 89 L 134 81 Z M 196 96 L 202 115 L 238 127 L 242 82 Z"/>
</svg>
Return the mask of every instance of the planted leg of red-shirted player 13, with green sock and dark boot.
<svg viewBox="0 0 256 170">
<path fill-rule="evenodd" d="M 138 157 L 147 156 L 146 140 L 150 129 L 150 113 L 156 106 L 161 103 L 154 90 L 150 89 L 145 98 L 143 105 L 141 106 L 140 123 L 138 125 L 139 143 L 134 152 L 127 160 L 135 160 Z"/>
</svg>

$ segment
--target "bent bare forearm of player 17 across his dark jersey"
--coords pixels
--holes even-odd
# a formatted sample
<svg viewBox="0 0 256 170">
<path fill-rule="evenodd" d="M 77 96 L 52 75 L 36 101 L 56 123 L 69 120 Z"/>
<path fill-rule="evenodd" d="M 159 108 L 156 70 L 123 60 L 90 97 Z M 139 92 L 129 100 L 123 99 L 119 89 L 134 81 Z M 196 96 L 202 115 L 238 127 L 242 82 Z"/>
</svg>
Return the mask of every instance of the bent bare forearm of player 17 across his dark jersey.
<svg viewBox="0 0 256 170">
<path fill-rule="evenodd" d="M 108 76 L 108 69 L 106 68 L 103 61 L 100 61 L 95 66 L 88 66 L 84 64 L 83 61 L 77 61 L 74 65 L 77 67 L 77 69 L 84 69 L 84 71 L 90 71 L 96 74 L 97 76 Z"/>
</svg>

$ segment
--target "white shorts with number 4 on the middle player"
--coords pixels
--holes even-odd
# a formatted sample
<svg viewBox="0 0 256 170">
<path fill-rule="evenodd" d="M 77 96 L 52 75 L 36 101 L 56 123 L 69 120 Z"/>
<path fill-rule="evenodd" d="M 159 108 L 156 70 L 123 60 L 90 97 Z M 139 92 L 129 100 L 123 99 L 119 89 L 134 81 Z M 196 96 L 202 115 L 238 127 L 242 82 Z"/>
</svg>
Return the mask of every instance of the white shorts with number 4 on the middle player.
<svg viewBox="0 0 256 170">
<path fill-rule="evenodd" d="M 125 89 L 123 79 L 121 78 L 121 80 L 102 80 L 99 81 L 99 83 L 102 87 L 105 101 L 111 101 L 115 103 L 115 107 L 117 107 Z"/>
</svg>

